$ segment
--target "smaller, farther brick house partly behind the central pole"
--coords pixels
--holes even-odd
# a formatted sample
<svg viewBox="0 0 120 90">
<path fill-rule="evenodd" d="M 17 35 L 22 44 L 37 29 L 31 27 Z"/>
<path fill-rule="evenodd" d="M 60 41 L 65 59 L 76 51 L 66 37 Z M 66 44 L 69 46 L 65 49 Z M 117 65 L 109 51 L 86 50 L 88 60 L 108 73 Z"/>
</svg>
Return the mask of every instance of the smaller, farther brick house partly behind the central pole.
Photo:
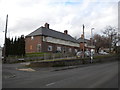
<svg viewBox="0 0 120 90">
<path fill-rule="evenodd" d="M 93 45 L 92 38 L 90 40 L 84 39 L 84 36 L 81 35 L 81 37 L 77 40 L 80 44 L 80 50 L 83 51 L 83 49 L 86 51 L 90 51 L 91 49 L 95 51 L 95 46 Z"/>
</svg>

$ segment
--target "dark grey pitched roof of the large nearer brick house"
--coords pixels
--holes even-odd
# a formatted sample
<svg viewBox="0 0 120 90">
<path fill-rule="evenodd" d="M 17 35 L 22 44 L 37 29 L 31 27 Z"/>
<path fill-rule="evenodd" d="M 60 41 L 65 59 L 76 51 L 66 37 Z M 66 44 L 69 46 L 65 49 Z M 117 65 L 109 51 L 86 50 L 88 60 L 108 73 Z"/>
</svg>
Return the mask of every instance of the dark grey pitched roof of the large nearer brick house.
<svg viewBox="0 0 120 90">
<path fill-rule="evenodd" d="M 26 37 L 38 36 L 38 35 L 50 36 L 50 37 L 54 37 L 54 38 L 57 38 L 57 39 L 62 39 L 62 40 L 66 40 L 66 41 L 72 41 L 72 42 L 75 42 L 75 43 L 79 43 L 76 39 L 74 39 L 72 36 L 70 36 L 68 34 L 64 34 L 62 32 L 58 32 L 58 31 L 55 31 L 55 30 L 52 30 L 52 29 L 47 29 L 45 27 L 38 28 L 37 30 L 28 34 Z"/>
</svg>

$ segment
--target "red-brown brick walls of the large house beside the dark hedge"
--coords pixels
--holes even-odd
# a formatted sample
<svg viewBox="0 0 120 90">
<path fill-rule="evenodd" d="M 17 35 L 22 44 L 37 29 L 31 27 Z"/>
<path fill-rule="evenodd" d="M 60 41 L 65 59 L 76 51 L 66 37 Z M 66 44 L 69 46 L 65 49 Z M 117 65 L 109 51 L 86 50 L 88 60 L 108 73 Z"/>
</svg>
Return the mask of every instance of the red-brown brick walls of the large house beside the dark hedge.
<svg viewBox="0 0 120 90">
<path fill-rule="evenodd" d="M 75 53 L 75 49 L 79 50 L 80 48 L 78 47 L 72 47 L 72 46 L 65 46 L 65 45 L 60 45 L 60 44 L 54 44 L 50 42 L 44 42 L 42 41 L 42 36 L 34 36 L 33 39 L 32 37 L 26 37 L 25 38 L 25 49 L 26 53 L 33 53 L 33 52 L 56 52 L 57 47 L 61 47 L 62 52 L 64 51 L 63 48 L 66 49 L 67 53 Z M 38 51 L 37 45 L 41 44 L 41 49 Z M 52 46 L 52 51 L 48 51 L 48 46 Z M 69 48 L 71 48 L 71 52 L 69 52 Z"/>
</svg>

